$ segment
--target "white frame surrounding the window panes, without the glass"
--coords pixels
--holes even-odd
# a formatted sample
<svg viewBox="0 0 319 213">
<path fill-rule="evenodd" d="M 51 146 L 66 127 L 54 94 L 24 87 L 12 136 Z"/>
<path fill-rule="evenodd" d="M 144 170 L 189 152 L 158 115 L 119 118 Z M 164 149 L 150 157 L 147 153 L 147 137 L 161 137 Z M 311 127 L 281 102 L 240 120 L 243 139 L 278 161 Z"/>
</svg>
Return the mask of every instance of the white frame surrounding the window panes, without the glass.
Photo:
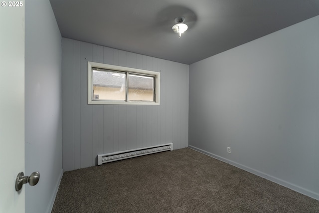
<svg viewBox="0 0 319 213">
<path fill-rule="evenodd" d="M 88 61 L 88 84 L 87 84 L 87 93 L 88 93 L 88 104 L 113 104 L 113 105 L 160 105 L 160 72 L 154 72 L 143 69 L 135 69 L 130 67 L 116 66 L 111 64 L 103 64 Z M 117 101 L 117 100 L 98 100 L 93 97 L 93 68 L 107 69 L 110 71 L 121 71 L 128 73 L 152 75 L 155 77 L 154 85 L 154 99 L 155 101 Z M 128 85 L 126 85 L 128 86 Z"/>
</svg>

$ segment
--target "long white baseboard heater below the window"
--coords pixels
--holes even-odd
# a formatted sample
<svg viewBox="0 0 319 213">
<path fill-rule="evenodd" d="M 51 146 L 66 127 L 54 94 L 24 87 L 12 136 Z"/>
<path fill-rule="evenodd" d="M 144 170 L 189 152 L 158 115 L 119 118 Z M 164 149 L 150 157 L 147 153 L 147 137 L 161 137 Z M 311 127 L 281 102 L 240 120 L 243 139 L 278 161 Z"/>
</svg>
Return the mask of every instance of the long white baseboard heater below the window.
<svg viewBox="0 0 319 213">
<path fill-rule="evenodd" d="M 142 155 L 149 155 L 149 154 L 164 152 L 169 150 L 170 151 L 173 150 L 172 143 L 102 154 L 102 155 L 98 155 L 98 165 L 102 165 L 104 163 L 108 163 L 112 161 L 118 161 L 118 160 L 123 160 L 127 158 L 134 158 L 134 157 L 138 157 Z"/>
</svg>

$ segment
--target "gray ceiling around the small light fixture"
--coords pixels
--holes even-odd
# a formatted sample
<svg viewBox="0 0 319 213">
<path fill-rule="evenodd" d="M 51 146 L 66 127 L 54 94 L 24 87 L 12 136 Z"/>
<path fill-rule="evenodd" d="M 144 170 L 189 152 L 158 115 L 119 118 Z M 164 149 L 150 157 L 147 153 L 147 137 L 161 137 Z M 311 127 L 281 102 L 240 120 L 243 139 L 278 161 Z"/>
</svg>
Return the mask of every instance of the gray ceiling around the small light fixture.
<svg viewBox="0 0 319 213">
<path fill-rule="evenodd" d="M 319 0 L 50 0 L 62 37 L 192 64 L 319 15 Z M 179 38 L 171 27 L 185 17 Z"/>
</svg>

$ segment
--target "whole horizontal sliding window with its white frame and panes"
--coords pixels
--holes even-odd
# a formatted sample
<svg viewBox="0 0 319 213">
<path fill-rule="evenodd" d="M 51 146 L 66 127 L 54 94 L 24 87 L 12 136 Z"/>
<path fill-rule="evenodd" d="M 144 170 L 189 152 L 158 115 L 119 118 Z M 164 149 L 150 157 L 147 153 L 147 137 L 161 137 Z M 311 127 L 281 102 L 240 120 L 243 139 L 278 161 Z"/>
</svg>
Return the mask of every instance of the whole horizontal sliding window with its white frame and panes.
<svg viewBox="0 0 319 213">
<path fill-rule="evenodd" d="M 88 104 L 160 104 L 160 73 L 88 61 Z"/>
</svg>

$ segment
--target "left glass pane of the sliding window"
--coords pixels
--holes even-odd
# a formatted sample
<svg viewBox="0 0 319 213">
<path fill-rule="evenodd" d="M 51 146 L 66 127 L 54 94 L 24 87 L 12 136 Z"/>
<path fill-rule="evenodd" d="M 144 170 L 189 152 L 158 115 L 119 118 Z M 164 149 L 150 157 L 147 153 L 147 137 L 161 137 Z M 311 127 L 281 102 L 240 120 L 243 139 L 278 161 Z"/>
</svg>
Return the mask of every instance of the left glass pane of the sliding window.
<svg viewBox="0 0 319 213">
<path fill-rule="evenodd" d="M 125 100 L 126 73 L 93 70 L 94 100 Z"/>
</svg>

